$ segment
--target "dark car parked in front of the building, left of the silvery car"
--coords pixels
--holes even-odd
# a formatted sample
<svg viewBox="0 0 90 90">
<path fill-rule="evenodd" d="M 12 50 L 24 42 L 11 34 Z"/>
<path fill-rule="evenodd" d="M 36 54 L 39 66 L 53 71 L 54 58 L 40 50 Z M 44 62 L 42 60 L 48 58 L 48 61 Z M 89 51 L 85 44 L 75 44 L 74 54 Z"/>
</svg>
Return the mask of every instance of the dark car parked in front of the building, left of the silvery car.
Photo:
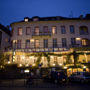
<svg viewBox="0 0 90 90">
<path fill-rule="evenodd" d="M 52 71 L 50 75 L 44 77 L 44 80 L 54 83 L 66 82 L 67 75 L 62 71 Z"/>
</svg>

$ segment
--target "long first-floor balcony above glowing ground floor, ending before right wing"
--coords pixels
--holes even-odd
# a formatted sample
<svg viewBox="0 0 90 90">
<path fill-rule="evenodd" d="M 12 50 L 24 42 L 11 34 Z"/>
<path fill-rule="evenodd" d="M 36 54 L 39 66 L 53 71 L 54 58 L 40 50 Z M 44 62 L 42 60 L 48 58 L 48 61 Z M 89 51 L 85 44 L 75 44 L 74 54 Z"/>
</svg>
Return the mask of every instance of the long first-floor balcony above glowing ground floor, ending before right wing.
<svg viewBox="0 0 90 90">
<path fill-rule="evenodd" d="M 12 50 L 18 52 L 63 52 L 68 51 L 69 49 L 67 47 L 62 47 L 61 43 L 58 43 L 56 46 L 53 46 L 52 43 L 48 43 L 47 47 L 44 47 L 43 45 L 35 47 L 34 44 L 26 45 L 25 43 L 22 43 L 21 46 L 18 44 L 13 45 Z"/>
</svg>

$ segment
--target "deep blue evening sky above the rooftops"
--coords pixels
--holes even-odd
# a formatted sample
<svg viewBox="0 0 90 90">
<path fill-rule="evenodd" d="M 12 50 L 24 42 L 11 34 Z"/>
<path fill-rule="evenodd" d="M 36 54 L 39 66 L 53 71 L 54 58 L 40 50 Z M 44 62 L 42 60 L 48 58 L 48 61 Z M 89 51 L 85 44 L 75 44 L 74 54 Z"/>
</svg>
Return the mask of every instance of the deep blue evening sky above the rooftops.
<svg viewBox="0 0 90 90">
<path fill-rule="evenodd" d="M 90 0 L 0 0 L 0 23 L 5 26 L 26 16 L 78 17 L 87 13 Z"/>
</svg>

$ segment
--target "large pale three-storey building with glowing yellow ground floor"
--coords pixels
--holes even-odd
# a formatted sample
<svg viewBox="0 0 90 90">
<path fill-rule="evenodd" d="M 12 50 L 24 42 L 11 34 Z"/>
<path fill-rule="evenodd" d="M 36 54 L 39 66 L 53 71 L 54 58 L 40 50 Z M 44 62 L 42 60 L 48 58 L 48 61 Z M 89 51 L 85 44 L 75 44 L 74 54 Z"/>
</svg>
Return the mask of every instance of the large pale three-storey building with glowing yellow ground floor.
<svg viewBox="0 0 90 90">
<path fill-rule="evenodd" d="M 66 55 L 74 49 L 77 52 L 90 52 L 89 14 L 78 18 L 25 17 L 23 21 L 12 23 L 11 27 L 13 58 L 10 62 L 20 66 L 35 66 L 36 62 L 42 67 L 48 67 L 48 63 L 50 66 L 64 65 Z M 80 55 L 79 62 L 90 62 L 89 58 L 89 54 Z M 74 62 L 73 56 L 70 60 Z"/>
</svg>

